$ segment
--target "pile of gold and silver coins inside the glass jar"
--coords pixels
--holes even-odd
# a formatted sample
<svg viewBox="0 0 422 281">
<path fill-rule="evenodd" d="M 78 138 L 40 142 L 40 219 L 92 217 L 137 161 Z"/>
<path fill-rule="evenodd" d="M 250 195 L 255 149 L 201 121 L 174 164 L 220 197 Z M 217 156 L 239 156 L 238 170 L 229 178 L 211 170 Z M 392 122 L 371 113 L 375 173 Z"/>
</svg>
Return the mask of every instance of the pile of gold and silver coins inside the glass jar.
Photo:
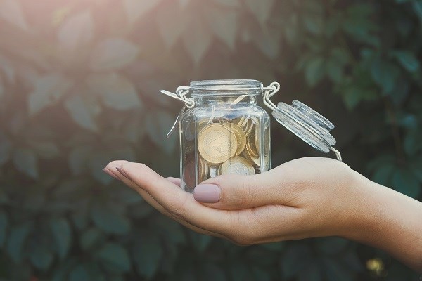
<svg viewBox="0 0 422 281">
<path fill-rule="evenodd" d="M 186 131 L 185 136 L 191 138 L 193 130 L 188 130 L 190 131 Z M 203 119 L 198 122 L 197 131 L 197 161 L 193 153 L 185 159 L 184 178 L 188 186 L 195 186 L 195 176 L 200 183 L 222 174 L 260 173 L 261 159 L 264 159 L 265 169 L 269 168 L 269 147 L 261 148 L 261 127 L 256 117 L 243 115 L 233 119 Z M 267 131 L 264 132 L 264 141 L 269 143 L 269 139 L 265 137 L 269 136 L 269 131 L 264 131 Z M 262 152 L 262 149 L 267 151 Z M 197 170 L 193 166 L 196 162 Z"/>
</svg>

